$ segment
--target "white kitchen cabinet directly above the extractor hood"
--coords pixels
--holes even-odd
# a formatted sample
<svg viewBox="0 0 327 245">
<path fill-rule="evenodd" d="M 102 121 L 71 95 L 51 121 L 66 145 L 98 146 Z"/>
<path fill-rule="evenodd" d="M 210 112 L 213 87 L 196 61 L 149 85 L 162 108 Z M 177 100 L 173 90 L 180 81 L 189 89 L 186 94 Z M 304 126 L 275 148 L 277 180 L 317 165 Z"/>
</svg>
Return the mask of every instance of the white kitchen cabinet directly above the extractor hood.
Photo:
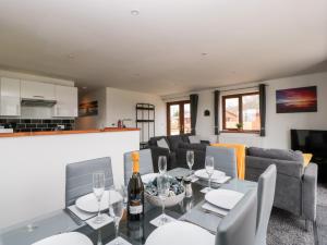
<svg viewBox="0 0 327 245">
<path fill-rule="evenodd" d="M 23 99 L 56 100 L 56 86 L 53 84 L 34 81 L 21 82 L 21 96 Z"/>
</svg>

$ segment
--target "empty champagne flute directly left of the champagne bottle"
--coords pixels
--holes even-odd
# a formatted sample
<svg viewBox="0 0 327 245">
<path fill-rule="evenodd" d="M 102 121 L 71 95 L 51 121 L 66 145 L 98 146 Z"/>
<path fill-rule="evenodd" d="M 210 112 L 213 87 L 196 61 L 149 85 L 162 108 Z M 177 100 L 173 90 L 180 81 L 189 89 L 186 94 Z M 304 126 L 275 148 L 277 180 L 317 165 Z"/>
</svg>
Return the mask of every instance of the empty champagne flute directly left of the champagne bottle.
<svg viewBox="0 0 327 245">
<path fill-rule="evenodd" d="M 119 222 L 124 213 L 124 197 L 123 188 L 111 188 L 110 189 L 110 204 L 109 204 L 109 215 L 113 218 L 114 221 L 114 231 L 116 240 L 119 234 Z M 121 244 L 119 240 L 116 241 L 116 245 Z"/>
</svg>

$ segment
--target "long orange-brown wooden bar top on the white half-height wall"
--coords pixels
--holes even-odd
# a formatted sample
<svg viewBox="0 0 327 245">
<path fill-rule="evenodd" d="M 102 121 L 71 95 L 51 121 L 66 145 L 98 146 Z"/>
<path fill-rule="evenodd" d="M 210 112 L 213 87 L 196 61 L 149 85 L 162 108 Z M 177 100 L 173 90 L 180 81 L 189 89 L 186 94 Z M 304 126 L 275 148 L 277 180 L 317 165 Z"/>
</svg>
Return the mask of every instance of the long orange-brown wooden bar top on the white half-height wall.
<svg viewBox="0 0 327 245">
<path fill-rule="evenodd" d="M 89 133 L 126 132 L 126 131 L 140 131 L 140 128 L 134 128 L 134 127 L 106 127 L 104 130 L 41 131 L 41 132 L 0 133 L 0 138 L 1 137 L 26 137 L 26 136 L 45 136 L 45 135 L 68 135 L 68 134 L 89 134 Z"/>
</svg>

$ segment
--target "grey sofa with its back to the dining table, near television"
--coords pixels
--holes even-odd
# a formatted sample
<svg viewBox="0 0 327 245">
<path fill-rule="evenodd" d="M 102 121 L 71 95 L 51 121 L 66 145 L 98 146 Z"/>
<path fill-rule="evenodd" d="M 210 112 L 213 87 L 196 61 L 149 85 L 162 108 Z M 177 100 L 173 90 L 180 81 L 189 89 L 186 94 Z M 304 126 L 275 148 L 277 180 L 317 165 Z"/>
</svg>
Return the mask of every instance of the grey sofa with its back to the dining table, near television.
<svg viewBox="0 0 327 245">
<path fill-rule="evenodd" d="M 277 167 L 274 206 L 306 221 L 316 220 L 317 164 L 303 164 L 301 151 L 250 147 L 245 160 L 245 179 L 258 181 L 270 166 Z M 308 223 L 306 222 L 306 225 Z"/>
</svg>

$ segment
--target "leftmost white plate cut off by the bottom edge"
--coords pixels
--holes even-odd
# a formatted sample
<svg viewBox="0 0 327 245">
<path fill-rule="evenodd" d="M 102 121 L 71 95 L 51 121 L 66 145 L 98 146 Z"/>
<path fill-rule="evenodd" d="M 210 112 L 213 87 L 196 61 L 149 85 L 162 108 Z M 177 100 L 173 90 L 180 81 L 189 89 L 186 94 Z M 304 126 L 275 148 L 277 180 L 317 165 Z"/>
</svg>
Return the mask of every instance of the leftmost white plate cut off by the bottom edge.
<svg viewBox="0 0 327 245">
<path fill-rule="evenodd" d="M 32 245 L 93 245 L 93 243 L 84 234 L 78 232 L 69 232 L 49 236 Z"/>
</svg>

